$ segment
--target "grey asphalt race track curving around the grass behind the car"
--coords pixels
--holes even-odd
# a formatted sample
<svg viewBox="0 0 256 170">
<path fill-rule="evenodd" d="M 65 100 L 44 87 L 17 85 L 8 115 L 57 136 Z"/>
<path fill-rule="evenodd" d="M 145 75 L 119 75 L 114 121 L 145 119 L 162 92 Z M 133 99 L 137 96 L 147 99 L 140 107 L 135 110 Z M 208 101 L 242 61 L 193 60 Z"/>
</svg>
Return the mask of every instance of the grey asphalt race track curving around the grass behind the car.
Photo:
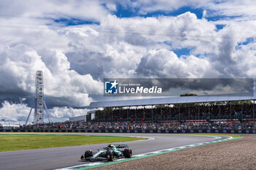
<svg viewBox="0 0 256 170">
<path fill-rule="evenodd" d="M 78 134 L 76 134 L 78 135 Z M 135 142 L 119 142 L 129 144 L 132 154 L 140 154 L 163 150 L 172 147 L 181 147 L 188 144 L 209 142 L 216 140 L 214 136 L 178 135 L 178 134 L 80 134 L 104 136 L 142 136 L 148 140 Z M 222 139 L 228 136 L 220 136 Z M 97 151 L 106 147 L 106 144 L 90 144 L 74 147 L 56 147 L 38 150 L 19 150 L 0 152 L 0 169 L 61 169 L 87 163 L 80 161 L 80 155 L 85 150 Z M 90 163 L 90 162 L 88 162 Z"/>
</svg>

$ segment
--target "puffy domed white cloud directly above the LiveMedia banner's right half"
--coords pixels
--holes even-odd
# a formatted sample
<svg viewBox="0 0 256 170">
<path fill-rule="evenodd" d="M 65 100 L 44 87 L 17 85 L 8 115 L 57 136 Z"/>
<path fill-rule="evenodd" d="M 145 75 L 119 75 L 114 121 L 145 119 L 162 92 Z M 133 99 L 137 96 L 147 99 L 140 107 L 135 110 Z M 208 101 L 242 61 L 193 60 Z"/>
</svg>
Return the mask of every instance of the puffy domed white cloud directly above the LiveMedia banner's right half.
<svg viewBox="0 0 256 170">
<path fill-rule="evenodd" d="M 141 59 L 136 72 L 140 77 L 200 78 L 212 72 L 212 68 L 204 58 L 194 55 L 178 58 L 173 51 L 162 49 L 149 51 Z"/>
</svg>

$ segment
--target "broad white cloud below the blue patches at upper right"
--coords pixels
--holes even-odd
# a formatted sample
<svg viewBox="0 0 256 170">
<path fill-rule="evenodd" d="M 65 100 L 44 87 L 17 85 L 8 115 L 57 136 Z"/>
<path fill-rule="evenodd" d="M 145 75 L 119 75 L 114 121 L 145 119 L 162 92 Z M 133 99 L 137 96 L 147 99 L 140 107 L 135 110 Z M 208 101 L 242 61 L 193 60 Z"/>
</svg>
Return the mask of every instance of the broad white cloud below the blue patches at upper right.
<svg viewBox="0 0 256 170">
<path fill-rule="evenodd" d="M 219 40 L 214 23 L 197 19 L 191 12 L 158 18 L 120 19 L 108 15 L 100 26 L 106 43 L 123 40 L 134 46 L 159 48 L 159 43 L 169 42 L 170 49 L 196 47 L 194 53 L 214 53 Z"/>
</svg>

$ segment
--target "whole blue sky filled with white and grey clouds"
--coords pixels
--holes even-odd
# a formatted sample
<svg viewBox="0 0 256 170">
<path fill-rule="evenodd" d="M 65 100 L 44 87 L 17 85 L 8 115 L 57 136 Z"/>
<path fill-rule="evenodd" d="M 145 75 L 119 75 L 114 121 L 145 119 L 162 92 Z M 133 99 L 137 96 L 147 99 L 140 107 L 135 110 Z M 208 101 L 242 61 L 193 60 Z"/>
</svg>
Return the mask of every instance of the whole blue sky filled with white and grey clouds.
<svg viewBox="0 0 256 170">
<path fill-rule="evenodd" d="M 38 69 L 53 120 L 108 99 L 106 77 L 256 77 L 252 0 L 2 0 L 0 20 L 5 123 L 26 120 Z"/>
</svg>

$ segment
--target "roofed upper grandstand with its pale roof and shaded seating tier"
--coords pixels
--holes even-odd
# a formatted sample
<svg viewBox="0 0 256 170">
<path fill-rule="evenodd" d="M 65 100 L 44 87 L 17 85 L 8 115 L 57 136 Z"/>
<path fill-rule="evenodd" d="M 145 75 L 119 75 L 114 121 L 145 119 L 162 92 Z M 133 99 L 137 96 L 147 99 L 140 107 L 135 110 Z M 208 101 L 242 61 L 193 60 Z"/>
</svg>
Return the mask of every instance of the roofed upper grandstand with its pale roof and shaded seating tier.
<svg viewBox="0 0 256 170">
<path fill-rule="evenodd" d="M 95 122 L 255 122 L 256 96 L 182 96 L 91 102 Z M 104 108 L 99 110 L 99 108 Z"/>
</svg>

